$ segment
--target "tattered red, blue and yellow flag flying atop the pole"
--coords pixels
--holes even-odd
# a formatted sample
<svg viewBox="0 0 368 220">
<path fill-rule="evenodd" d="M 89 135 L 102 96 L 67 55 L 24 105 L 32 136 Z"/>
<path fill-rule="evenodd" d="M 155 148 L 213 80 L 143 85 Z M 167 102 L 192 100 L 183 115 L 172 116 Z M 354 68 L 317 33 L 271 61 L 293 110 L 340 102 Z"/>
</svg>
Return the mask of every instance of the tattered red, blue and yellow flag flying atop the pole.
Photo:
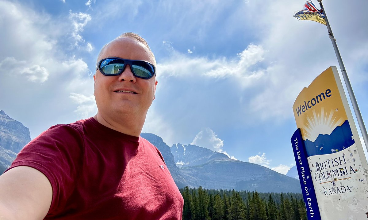
<svg viewBox="0 0 368 220">
<path fill-rule="evenodd" d="M 303 10 L 298 11 L 294 17 L 299 20 L 311 20 L 326 25 L 325 15 L 322 9 L 318 10 L 311 0 L 305 2 Z"/>
</svg>

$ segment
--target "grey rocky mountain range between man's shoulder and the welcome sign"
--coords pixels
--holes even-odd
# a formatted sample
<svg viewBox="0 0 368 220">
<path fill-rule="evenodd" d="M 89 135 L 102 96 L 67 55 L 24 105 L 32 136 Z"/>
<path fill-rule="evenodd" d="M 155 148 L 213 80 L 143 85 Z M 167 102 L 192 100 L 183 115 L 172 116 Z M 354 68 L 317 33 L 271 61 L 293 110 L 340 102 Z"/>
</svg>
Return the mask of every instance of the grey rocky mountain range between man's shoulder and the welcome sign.
<svg viewBox="0 0 368 220">
<path fill-rule="evenodd" d="M 259 192 L 301 192 L 298 180 L 264 166 L 230 159 L 225 154 L 192 144 L 174 144 L 169 154 L 168 146 L 160 137 L 148 133 L 141 136 L 159 148 L 168 167 L 169 162 L 171 167 L 180 166 L 174 167 L 174 172 L 171 167 L 169 170 L 175 182 L 178 181 L 176 175 L 180 173 L 180 178 L 184 179 L 180 183 L 185 186 Z"/>
</svg>

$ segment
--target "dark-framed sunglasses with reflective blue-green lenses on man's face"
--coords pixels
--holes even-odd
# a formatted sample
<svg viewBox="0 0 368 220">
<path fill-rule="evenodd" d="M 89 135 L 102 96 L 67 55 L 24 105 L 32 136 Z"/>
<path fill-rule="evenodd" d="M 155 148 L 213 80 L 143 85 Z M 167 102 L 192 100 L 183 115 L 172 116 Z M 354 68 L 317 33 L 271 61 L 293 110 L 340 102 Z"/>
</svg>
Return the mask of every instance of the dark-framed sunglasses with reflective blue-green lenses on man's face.
<svg viewBox="0 0 368 220">
<path fill-rule="evenodd" d="M 96 70 L 100 70 L 105 76 L 118 76 L 123 73 L 127 64 L 135 77 L 149 79 L 156 74 L 156 68 L 152 63 L 144 60 L 128 60 L 117 57 L 100 60 Z"/>
</svg>

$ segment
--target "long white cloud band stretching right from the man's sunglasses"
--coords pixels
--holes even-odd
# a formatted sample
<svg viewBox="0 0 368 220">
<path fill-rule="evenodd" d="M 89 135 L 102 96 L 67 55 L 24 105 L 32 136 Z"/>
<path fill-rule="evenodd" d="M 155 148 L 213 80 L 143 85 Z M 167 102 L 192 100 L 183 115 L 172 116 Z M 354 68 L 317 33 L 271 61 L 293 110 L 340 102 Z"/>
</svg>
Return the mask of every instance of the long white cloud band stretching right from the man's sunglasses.
<svg viewBox="0 0 368 220">
<path fill-rule="evenodd" d="M 172 43 L 163 41 L 163 44 L 173 49 Z M 191 58 L 185 54 L 173 51 L 170 59 L 158 64 L 158 76 L 198 77 L 198 74 L 202 74 L 210 78 L 236 77 L 238 83 L 243 87 L 248 87 L 265 74 L 266 70 L 262 68 L 256 70 L 251 68 L 264 59 L 265 52 L 261 45 L 253 44 L 248 45 L 244 51 L 238 53 L 236 59 L 227 59 L 225 57 L 217 59 L 208 59 L 206 57 Z"/>
</svg>

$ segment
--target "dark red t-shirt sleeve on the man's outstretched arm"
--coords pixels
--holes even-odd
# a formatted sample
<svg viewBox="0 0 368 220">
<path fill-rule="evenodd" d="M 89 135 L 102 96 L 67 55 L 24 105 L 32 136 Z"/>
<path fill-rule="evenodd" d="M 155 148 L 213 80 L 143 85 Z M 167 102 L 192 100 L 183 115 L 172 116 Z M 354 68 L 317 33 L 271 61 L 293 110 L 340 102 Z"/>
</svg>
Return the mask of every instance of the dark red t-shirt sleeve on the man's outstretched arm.
<svg viewBox="0 0 368 220">
<path fill-rule="evenodd" d="M 76 126 L 55 125 L 29 142 L 9 169 L 29 166 L 42 172 L 53 190 L 49 214 L 58 213 L 75 188 L 83 146 L 83 137 Z"/>
</svg>

